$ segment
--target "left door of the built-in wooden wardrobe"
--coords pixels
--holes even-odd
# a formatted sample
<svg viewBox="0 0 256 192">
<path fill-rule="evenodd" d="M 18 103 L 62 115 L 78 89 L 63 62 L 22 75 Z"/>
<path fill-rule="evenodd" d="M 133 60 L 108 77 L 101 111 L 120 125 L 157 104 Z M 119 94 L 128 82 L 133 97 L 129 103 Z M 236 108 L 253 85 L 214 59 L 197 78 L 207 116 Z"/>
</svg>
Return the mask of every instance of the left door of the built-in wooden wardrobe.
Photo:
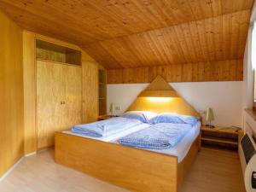
<svg viewBox="0 0 256 192">
<path fill-rule="evenodd" d="M 55 131 L 63 130 L 65 67 L 37 61 L 38 149 L 54 145 Z"/>
</svg>

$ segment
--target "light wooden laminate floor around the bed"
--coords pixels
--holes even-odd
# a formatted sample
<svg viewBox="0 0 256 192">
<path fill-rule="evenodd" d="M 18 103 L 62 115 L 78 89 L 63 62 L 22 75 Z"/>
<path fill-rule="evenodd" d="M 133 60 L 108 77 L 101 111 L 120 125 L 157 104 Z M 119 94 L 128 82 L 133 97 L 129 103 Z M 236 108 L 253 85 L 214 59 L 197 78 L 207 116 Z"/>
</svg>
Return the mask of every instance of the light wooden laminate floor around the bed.
<svg viewBox="0 0 256 192">
<path fill-rule="evenodd" d="M 56 165 L 53 150 L 23 160 L 0 183 L 1 192 L 125 192 L 112 184 Z M 245 192 L 237 154 L 202 148 L 181 192 Z"/>
</svg>

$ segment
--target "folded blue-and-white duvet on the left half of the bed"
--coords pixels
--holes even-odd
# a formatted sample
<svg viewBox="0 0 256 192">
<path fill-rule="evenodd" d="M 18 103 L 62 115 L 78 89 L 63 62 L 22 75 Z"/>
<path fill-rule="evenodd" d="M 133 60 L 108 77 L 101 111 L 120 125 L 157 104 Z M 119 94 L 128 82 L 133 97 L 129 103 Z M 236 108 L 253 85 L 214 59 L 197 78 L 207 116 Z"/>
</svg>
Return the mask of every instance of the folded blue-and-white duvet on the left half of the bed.
<svg viewBox="0 0 256 192">
<path fill-rule="evenodd" d="M 71 131 L 89 137 L 107 137 L 140 124 L 142 121 L 137 119 L 117 117 L 90 124 L 74 125 Z"/>
</svg>

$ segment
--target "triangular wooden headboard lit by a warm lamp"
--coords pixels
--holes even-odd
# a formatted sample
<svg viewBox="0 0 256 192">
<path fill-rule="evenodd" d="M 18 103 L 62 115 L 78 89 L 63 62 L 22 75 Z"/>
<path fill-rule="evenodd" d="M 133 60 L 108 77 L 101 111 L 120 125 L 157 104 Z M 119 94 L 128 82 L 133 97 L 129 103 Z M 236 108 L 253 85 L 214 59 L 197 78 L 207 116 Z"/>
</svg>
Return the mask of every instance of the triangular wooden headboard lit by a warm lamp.
<svg viewBox="0 0 256 192">
<path fill-rule="evenodd" d="M 137 99 L 131 104 L 127 111 L 171 112 L 201 118 L 195 108 L 186 102 L 182 96 L 179 96 L 177 91 L 160 76 L 157 76 L 156 79 L 137 96 Z"/>
</svg>

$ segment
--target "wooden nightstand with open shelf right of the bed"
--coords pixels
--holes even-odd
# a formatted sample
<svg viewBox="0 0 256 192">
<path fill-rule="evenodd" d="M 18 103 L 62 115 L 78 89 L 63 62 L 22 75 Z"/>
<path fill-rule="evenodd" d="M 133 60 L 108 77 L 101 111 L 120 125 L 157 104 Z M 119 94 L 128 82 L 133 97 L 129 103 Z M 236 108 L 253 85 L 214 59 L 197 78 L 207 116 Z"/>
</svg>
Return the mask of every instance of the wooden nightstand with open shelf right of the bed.
<svg viewBox="0 0 256 192">
<path fill-rule="evenodd" d="M 242 137 L 240 128 L 233 127 L 215 127 L 209 128 L 205 125 L 201 126 L 201 145 L 202 147 L 218 148 L 218 149 L 238 149 L 238 143 Z"/>
</svg>

